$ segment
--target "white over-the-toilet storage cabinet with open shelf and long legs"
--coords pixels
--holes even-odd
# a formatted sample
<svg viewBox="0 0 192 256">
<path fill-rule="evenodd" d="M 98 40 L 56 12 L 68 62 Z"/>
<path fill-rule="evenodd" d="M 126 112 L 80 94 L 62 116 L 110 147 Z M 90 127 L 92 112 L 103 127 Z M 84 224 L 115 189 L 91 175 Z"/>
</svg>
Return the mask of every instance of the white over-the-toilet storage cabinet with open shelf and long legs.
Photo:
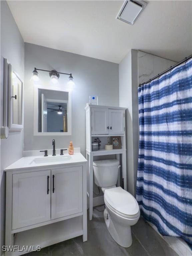
<svg viewBox="0 0 192 256">
<path fill-rule="evenodd" d="M 89 158 L 88 172 L 88 191 L 89 197 L 89 219 L 93 215 L 93 158 L 94 156 L 116 155 L 120 160 L 122 156 L 122 178 L 124 189 L 127 189 L 126 176 L 126 137 L 125 137 L 125 109 L 122 107 L 87 105 L 86 111 L 86 158 Z M 122 147 L 121 149 L 105 150 L 104 141 L 107 143 L 107 137 L 120 136 Z M 102 148 L 98 151 L 92 151 L 91 143 L 96 137 L 103 141 Z"/>
</svg>

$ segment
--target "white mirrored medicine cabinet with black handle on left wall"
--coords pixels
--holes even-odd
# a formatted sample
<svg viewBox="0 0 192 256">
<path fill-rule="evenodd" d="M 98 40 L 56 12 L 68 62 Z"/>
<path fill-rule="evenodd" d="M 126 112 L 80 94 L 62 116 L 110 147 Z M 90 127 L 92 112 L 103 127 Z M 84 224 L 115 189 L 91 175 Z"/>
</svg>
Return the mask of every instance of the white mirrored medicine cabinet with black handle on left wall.
<svg viewBox="0 0 192 256">
<path fill-rule="evenodd" d="M 12 70 L 11 64 L 8 65 L 9 69 L 9 113 L 8 123 L 11 130 L 23 129 L 23 81 L 18 74 Z"/>
</svg>

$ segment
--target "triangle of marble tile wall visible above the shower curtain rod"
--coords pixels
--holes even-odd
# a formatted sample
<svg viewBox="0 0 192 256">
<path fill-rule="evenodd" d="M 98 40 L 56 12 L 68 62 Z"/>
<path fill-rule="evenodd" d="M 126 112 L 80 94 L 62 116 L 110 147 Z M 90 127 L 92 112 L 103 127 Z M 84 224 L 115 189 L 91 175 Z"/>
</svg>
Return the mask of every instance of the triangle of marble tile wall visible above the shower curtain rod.
<svg viewBox="0 0 192 256">
<path fill-rule="evenodd" d="M 154 76 L 160 74 L 176 62 L 161 57 L 154 56 L 149 53 L 138 51 L 138 82 L 139 84 L 146 82 Z"/>
</svg>

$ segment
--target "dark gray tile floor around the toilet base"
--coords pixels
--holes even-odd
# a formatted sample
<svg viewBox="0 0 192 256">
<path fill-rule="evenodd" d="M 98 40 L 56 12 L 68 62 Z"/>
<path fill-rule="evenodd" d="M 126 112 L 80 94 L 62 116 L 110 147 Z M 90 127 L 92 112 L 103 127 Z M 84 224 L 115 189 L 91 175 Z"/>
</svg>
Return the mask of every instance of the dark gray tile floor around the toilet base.
<svg viewBox="0 0 192 256">
<path fill-rule="evenodd" d="M 88 221 L 88 241 L 76 237 L 26 256 L 178 256 L 155 230 L 141 217 L 132 227 L 133 243 L 119 246 L 110 236 L 103 219 L 103 206 L 94 207 L 93 220 Z"/>
</svg>

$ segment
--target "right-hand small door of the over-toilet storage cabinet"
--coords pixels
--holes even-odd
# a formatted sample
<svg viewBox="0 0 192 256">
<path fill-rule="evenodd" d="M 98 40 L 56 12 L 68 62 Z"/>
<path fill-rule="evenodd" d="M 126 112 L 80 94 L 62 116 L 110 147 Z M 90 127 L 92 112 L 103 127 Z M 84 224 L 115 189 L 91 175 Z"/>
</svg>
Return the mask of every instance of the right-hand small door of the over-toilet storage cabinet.
<svg viewBox="0 0 192 256">
<path fill-rule="evenodd" d="M 124 110 L 109 109 L 109 134 L 124 134 Z"/>
</svg>

